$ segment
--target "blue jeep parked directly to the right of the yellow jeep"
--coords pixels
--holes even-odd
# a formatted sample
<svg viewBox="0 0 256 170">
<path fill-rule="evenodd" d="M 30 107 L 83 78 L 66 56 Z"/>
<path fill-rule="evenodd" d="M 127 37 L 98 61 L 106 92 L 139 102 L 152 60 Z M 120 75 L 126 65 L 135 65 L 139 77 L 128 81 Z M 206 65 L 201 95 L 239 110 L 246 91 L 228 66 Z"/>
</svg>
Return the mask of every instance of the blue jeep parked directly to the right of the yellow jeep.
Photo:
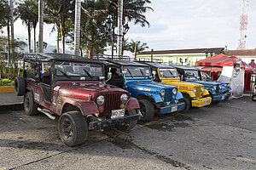
<svg viewBox="0 0 256 170">
<path fill-rule="evenodd" d="M 212 97 L 212 103 L 217 104 L 218 102 L 227 98 L 226 88 L 219 82 L 207 82 L 201 78 L 201 71 L 195 67 L 172 65 L 178 71 L 181 80 L 187 82 L 195 82 L 205 86 L 210 96 Z"/>
</svg>

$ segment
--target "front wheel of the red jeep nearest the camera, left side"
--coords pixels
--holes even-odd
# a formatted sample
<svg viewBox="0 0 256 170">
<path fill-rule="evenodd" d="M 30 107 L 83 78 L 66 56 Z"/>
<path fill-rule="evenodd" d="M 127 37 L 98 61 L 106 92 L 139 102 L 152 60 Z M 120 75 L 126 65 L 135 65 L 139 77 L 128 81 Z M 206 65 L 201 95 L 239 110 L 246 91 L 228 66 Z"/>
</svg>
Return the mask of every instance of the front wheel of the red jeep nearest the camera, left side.
<svg viewBox="0 0 256 170">
<path fill-rule="evenodd" d="M 68 111 L 58 122 L 61 141 L 68 146 L 84 143 L 88 136 L 88 124 L 79 111 Z"/>
</svg>

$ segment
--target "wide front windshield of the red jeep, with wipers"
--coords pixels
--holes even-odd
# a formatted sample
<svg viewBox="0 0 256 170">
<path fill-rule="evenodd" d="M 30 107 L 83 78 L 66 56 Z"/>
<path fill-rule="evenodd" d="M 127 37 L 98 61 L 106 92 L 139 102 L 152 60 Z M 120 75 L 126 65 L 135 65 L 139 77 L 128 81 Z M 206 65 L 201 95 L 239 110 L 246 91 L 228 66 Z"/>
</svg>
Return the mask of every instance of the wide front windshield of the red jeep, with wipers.
<svg viewBox="0 0 256 170">
<path fill-rule="evenodd" d="M 91 64 L 76 61 L 56 61 L 56 76 L 58 77 L 103 77 L 103 68 L 99 64 Z"/>
</svg>

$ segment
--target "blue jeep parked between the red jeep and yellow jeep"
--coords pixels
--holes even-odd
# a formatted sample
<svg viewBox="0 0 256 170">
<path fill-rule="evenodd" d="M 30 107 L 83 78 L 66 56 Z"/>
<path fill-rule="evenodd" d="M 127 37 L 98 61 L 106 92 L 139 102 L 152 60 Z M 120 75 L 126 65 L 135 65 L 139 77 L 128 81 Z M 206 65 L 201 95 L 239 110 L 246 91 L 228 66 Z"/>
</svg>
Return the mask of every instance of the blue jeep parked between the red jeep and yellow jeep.
<svg viewBox="0 0 256 170">
<path fill-rule="evenodd" d="M 183 94 L 172 85 L 152 82 L 150 67 L 125 60 L 105 61 L 107 71 L 112 72 L 108 84 L 125 88 L 131 97 L 139 101 L 143 121 L 149 121 L 154 111 L 166 114 L 183 111 Z"/>
</svg>

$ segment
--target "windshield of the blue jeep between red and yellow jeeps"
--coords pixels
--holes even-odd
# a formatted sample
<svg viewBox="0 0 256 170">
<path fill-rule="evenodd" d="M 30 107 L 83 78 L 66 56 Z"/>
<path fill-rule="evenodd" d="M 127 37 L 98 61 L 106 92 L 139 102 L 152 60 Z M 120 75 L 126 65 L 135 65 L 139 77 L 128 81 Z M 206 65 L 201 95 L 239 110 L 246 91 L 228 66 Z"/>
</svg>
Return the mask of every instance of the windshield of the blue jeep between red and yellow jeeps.
<svg viewBox="0 0 256 170">
<path fill-rule="evenodd" d="M 125 77 L 150 77 L 149 67 L 145 66 L 124 66 Z"/>
</svg>

